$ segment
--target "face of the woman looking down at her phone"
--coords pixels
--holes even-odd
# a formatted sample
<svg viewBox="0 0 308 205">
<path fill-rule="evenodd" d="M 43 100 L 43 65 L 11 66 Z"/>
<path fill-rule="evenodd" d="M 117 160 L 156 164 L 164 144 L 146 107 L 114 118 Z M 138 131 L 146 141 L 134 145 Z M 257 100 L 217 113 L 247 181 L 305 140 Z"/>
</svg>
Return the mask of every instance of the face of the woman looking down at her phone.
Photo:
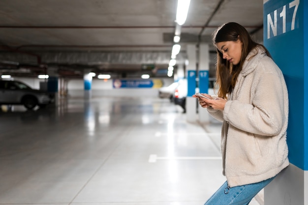
<svg viewBox="0 0 308 205">
<path fill-rule="evenodd" d="M 228 60 L 233 65 L 239 64 L 242 56 L 242 42 L 237 41 L 223 41 L 216 43 L 217 49 L 221 52 L 222 58 Z"/>
</svg>

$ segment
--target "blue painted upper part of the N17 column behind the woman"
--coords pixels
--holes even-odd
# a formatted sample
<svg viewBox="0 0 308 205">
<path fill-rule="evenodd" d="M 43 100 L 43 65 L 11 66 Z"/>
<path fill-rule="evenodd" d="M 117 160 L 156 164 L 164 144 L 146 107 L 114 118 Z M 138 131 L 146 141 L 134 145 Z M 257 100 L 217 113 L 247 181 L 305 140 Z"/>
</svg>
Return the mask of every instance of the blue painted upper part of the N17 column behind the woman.
<svg viewBox="0 0 308 205">
<path fill-rule="evenodd" d="M 307 170 L 307 136 L 304 134 L 304 0 L 269 0 L 264 3 L 263 15 L 264 45 L 282 70 L 289 92 L 289 159 L 292 164 Z"/>
</svg>

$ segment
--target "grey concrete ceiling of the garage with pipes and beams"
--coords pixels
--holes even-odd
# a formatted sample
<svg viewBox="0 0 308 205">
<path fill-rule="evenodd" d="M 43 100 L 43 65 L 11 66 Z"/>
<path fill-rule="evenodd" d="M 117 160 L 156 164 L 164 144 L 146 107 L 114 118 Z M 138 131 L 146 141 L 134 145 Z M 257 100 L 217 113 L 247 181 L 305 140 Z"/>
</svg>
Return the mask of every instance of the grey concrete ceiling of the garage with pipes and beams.
<svg viewBox="0 0 308 205">
<path fill-rule="evenodd" d="M 2 74 L 36 76 L 52 68 L 67 78 L 81 78 L 85 69 L 166 76 L 157 71 L 171 57 L 177 0 L 0 0 L 0 8 Z M 262 41 L 263 1 L 191 0 L 177 62 L 184 63 L 187 44 L 208 43 L 214 51 L 211 33 L 226 22 Z M 142 69 L 145 64 L 155 69 Z"/>
</svg>

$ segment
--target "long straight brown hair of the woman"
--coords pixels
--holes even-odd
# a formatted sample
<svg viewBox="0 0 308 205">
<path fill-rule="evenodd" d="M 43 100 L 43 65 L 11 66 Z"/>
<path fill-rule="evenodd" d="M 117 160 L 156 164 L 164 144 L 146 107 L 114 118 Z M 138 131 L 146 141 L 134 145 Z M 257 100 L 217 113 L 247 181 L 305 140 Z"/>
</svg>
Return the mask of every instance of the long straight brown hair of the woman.
<svg viewBox="0 0 308 205">
<path fill-rule="evenodd" d="M 236 84 L 236 80 L 249 52 L 256 46 L 261 46 L 269 57 L 271 57 L 271 55 L 263 45 L 254 42 L 247 30 L 238 23 L 230 22 L 221 25 L 213 32 L 212 39 L 214 46 L 219 42 L 237 41 L 238 39 L 240 39 L 243 44 L 241 60 L 237 65 L 233 65 L 227 59 L 223 59 L 222 53 L 216 49 L 216 86 L 219 87 L 218 96 L 227 99 L 227 95 L 232 92 Z"/>
</svg>

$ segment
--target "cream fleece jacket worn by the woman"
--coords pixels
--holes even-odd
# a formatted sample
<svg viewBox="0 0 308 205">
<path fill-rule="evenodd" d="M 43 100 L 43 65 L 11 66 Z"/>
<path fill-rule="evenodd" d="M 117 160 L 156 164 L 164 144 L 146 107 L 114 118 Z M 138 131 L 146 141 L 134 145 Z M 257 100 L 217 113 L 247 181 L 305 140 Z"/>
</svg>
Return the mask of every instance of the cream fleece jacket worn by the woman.
<svg viewBox="0 0 308 205">
<path fill-rule="evenodd" d="M 289 165 L 288 92 L 281 70 L 263 48 L 248 54 L 228 98 L 223 111 L 208 108 L 223 122 L 220 144 L 228 185 L 276 176 Z"/>
</svg>

